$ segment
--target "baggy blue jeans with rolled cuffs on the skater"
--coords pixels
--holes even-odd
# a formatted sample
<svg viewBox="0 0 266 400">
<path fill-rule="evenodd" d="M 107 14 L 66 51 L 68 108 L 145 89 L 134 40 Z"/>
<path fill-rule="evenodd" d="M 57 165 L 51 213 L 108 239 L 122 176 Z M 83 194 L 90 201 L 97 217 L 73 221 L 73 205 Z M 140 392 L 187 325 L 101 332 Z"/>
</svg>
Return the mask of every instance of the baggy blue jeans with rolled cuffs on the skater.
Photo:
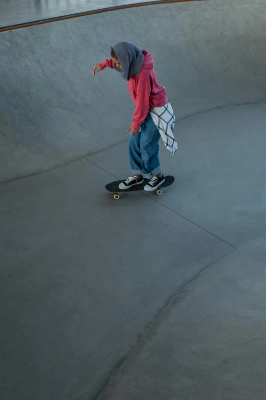
<svg viewBox="0 0 266 400">
<path fill-rule="evenodd" d="M 141 124 L 141 131 L 135 136 L 129 136 L 129 160 L 133 175 L 143 175 L 152 178 L 161 172 L 159 161 L 158 128 L 148 112 L 146 120 Z"/>
</svg>

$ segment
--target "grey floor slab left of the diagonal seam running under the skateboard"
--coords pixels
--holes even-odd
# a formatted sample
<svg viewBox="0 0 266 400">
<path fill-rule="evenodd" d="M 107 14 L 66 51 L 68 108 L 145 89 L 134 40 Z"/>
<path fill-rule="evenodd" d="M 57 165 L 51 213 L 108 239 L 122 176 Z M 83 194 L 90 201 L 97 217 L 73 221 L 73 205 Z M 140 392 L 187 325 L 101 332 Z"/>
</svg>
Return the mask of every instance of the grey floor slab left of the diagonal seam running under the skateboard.
<svg viewBox="0 0 266 400">
<path fill-rule="evenodd" d="M 3 400 L 94 398 L 176 290 L 233 249 L 143 194 L 116 202 L 112 180 L 81 160 L 2 186 Z"/>
</svg>

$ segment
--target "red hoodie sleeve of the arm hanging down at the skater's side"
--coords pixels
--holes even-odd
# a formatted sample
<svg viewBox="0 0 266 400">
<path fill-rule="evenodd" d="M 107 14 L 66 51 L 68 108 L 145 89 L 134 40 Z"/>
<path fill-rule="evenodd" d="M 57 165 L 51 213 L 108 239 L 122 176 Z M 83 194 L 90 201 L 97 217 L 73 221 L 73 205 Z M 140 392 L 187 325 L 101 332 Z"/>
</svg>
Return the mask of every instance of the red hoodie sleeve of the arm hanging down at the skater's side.
<svg viewBox="0 0 266 400">
<path fill-rule="evenodd" d="M 149 98 L 150 98 L 150 81 L 149 79 L 142 79 L 138 82 L 137 96 L 136 96 L 136 110 L 133 115 L 133 123 L 131 128 L 140 129 L 140 125 L 145 121 L 149 111 Z"/>
</svg>

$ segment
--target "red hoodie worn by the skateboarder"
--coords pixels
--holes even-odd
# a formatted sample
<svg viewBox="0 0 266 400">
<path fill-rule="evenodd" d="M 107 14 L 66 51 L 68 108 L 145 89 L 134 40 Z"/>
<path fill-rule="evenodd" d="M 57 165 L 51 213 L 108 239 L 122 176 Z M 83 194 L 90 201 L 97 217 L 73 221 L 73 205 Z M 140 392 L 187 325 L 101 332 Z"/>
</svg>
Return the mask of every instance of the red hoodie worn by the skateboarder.
<svg viewBox="0 0 266 400">
<path fill-rule="evenodd" d="M 127 81 L 127 86 L 135 103 L 136 110 L 133 115 L 134 129 L 140 129 L 140 125 L 145 121 L 148 110 L 153 107 L 163 107 L 167 104 L 166 89 L 157 83 L 157 75 L 153 69 L 153 57 L 151 54 L 142 51 L 144 54 L 144 62 L 141 72 L 137 77 L 132 77 Z M 100 68 L 114 68 L 112 58 L 105 60 L 100 65 Z"/>
</svg>

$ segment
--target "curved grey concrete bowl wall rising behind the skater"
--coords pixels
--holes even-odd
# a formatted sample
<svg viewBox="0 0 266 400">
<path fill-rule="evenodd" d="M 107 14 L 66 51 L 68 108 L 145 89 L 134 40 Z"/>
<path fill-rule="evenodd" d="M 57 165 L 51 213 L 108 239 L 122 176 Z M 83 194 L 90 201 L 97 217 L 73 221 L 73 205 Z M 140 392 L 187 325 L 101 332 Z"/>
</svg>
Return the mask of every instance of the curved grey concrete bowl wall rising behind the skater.
<svg viewBox="0 0 266 400">
<path fill-rule="evenodd" d="M 154 56 L 177 119 L 266 99 L 266 4 L 173 3 L 0 33 L 0 180 L 55 167 L 126 140 L 134 105 L 110 44 Z"/>
</svg>

